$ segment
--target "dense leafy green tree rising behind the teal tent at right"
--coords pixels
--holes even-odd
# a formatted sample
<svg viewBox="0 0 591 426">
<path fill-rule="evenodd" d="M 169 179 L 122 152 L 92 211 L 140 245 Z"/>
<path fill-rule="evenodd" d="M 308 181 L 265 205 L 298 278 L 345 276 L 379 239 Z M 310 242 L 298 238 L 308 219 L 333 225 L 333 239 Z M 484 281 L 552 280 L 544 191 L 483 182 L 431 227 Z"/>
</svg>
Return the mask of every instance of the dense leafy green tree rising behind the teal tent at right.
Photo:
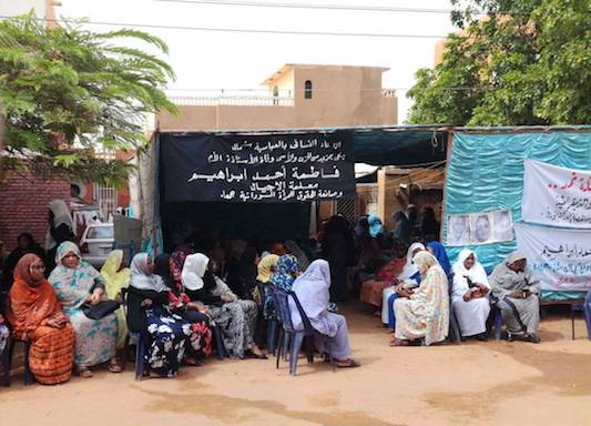
<svg viewBox="0 0 591 426">
<path fill-rule="evenodd" d="M 410 123 L 590 122 L 589 0 L 452 3 L 460 30 L 447 39 L 441 63 L 417 71 Z"/>
</svg>

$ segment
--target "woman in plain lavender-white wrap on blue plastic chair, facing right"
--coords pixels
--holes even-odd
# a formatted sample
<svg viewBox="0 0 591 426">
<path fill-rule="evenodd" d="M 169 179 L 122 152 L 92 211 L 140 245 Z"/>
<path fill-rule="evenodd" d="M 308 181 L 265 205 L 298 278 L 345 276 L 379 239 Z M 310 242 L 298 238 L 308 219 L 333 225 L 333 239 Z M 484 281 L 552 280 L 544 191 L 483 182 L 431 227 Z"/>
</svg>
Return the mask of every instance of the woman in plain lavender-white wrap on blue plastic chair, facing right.
<svg viewBox="0 0 591 426">
<path fill-rule="evenodd" d="M 360 364 L 350 357 L 347 321 L 343 315 L 328 312 L 329 287 L 330 267 L 328 262 L 318 260 L 312 262 L 306 272 L 294 282 L 293 292 L 314 329 L 320 333 L 315 339 L 318 352 L 329 354 L 340 368 L 358 367 Z M 294 328 L 304 329 L 302 316 L 292 298 L 289 311 Z"/>
</svg>

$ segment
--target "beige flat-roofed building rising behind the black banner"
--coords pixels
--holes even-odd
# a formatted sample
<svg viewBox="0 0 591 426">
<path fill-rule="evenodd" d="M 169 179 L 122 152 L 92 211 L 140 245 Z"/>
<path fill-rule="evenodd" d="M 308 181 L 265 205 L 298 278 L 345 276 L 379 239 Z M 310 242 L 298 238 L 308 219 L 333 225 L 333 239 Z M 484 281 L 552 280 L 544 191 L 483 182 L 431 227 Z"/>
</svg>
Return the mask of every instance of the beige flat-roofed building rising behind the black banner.
<svg viewBox="0 0 591 426">
<path fill-rule="evenodd" d="M 286 64 L 263 82 L 265 95 L 172 98 L 180 114 L 157 114 L 155 125 L 161 131 L 391 125 L 398 100 L 381 87 L 387 70 Z"/>
</svg>

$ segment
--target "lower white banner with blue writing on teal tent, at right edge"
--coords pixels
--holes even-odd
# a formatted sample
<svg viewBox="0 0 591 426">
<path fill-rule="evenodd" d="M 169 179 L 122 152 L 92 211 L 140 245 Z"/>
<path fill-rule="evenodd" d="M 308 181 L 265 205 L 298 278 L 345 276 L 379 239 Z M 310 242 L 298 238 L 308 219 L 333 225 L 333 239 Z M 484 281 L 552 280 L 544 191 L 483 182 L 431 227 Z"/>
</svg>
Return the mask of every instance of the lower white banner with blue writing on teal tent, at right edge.
<svg viewBox="0 0 591 426">
<path fill-rule="evenodd" d="M 543 290 L 591 288 L 591 231 L 514 226 L 517 247 L 540 277 Z"/>
</svg>

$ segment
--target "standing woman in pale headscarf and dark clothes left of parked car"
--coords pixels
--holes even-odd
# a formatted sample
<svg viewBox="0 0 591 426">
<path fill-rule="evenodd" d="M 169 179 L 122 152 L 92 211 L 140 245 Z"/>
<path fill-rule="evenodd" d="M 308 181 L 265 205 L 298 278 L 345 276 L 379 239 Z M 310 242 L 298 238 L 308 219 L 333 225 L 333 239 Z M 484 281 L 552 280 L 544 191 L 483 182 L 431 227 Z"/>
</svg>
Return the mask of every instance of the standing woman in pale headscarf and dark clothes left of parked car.
<svg viewBox="0 0 591 426">
<path fill-rule="evenodd" d="M 53 200 L 49 203 L 49 230 L 45 235 L 45 273 L 50 274 L 55 268 L 55 253 L 58 246 L 65 242 L 77 242 L 74 221 L 70 209 L 63 200 Z"/>
</svg>

